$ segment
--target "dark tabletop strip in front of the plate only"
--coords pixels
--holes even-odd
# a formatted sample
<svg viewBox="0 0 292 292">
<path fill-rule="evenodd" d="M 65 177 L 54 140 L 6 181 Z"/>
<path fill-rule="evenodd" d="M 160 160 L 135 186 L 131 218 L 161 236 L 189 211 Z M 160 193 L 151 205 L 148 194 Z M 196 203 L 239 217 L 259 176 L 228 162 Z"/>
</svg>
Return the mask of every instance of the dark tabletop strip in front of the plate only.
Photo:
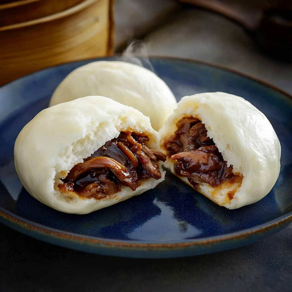
<svg viewBox="0 0 292 292">
<path fill-rule="evenodd" d="M 0 232 L 1 292 L 292 290 L 292 225 L 249 246 L 173 259 L 98 256 Z"/>
</svg>

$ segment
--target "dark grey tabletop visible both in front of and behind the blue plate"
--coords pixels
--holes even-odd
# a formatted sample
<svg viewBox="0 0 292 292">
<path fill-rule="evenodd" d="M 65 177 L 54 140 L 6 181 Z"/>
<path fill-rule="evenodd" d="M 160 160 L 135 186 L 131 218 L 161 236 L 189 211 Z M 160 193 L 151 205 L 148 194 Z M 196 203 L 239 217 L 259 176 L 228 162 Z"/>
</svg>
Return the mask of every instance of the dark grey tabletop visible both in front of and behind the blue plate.
<svg viewBox="0 0 292 292">
<path fill-rule="evenodd" d="M 135 13 L 139 5 L 144 6 L 143 17 Z M 133 12 L 131 18 L 125 9 Z M 115 12 L 116 47 L 123 39 L 144 35 L 150 55 L 213 62 L 292 93 L 292 64 L 260 53 L 241 27 L 222 16 L 181 9 L 172 0 L 119 0 Z M 156 22 L 162 15 L 166 22 L 159 26 Z M 152 31 L 146 33 L 141 27 Z M 0 233 L 1 292 L 292 291 L 292 225 L 263 241 L 231 251 L 146 260 L 73 251 L 1 224 Z"/>
</svg>

